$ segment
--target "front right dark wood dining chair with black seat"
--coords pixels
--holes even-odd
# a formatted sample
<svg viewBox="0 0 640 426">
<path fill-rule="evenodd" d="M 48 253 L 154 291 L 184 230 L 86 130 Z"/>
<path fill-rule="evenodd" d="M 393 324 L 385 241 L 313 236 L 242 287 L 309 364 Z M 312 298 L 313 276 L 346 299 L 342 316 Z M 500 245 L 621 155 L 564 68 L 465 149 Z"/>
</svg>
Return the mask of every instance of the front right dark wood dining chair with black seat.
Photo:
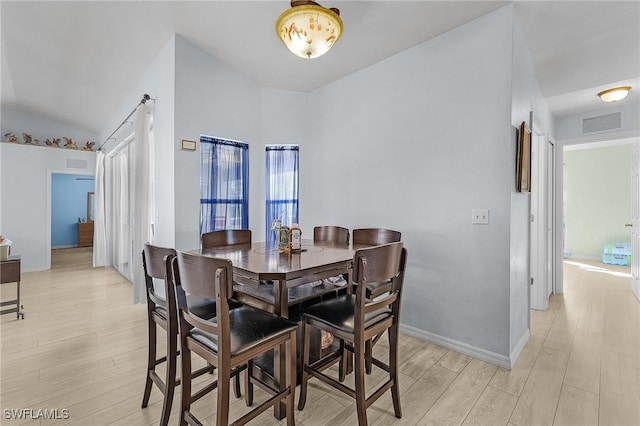
<svg viewBox="0 0 640 426">
<path fill-rule="evenodd" d="M 354 281 L 358 283 L 355 294 L 344 294 L 310 306 L 303 314 L 304 339 L 302 344 L 302 383 L 298 410 L 302 410 L 307 399 L 309 377 L 344 392 L 356 401 L 358 424 L 367 425 L 366 409 L 387 390 L 391 389 L 393 409 L 397 418 L 402 417 L 398 388 L 398 335 L 400 304 L 402 298 L 402 276 L 406 265 L 407 251 L 402 243 L 389 243 L 356 251 L 353 258 Z M 376 300 L 366 296 L 368 281 L 391 281 L 391 290 Z M 312 363 L 309 362 L 311 330 L 318 328 L 332 333 L 345 344 Z M 373 336 L 384 331 L 389 335 L 388 361 L 374 358 L 366 352 L 365 344 Z M 344 351 L 354 355 L 355 387 L 350 388 L 323 371 L 345 359 Z M 369 397 L 365 389 L 365 359 L 388 372 L 388 378 Z M 340 367 L 342 371 L 342 367 Z"/>
</svg>

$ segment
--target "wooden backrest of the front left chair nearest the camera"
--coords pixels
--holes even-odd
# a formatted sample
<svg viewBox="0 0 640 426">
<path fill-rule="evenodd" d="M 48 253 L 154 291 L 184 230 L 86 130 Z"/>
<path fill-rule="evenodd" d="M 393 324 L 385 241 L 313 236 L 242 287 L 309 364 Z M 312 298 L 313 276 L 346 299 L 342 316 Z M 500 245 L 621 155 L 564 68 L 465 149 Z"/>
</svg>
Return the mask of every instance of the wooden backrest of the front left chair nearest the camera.
<svg viewBox="0 0 640 426">
<path fill-rule="evenodd" d="M 186 327 L 185 331 L 197 327 L 217 335 L 218 345 L 229 349 L 229 299 L 233 295 L 231 261 L 178 251 L 171 266 L 181 330 L 182 327 Z M 198 299 L 215 299 L 217 320 L 207 320 L 191 311 L 187 295 Z"/>
</svg>

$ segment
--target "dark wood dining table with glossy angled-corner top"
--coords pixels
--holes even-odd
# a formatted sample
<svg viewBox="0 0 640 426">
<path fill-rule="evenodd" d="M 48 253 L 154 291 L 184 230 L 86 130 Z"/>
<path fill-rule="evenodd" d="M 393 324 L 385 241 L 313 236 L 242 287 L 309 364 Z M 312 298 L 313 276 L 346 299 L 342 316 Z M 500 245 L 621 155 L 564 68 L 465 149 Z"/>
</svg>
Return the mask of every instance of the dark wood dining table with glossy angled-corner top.
<svg viewBox="0 0 640 426">
<path fill-rule="evenodd" d="M 299 312 L 292 308 L 336 294 L 349 285 L 354 250 L 350 244 L 303 239 L 298 251 L 280 249 L 277 242 L 252 242 L 194 252 L 232 262 L 234 298 L 239 302 L 290 318 Z M 336 279 L 341 276 L 346 279 Z M 282 346 L 273 355 L 277 386 L 285 383 L 284 351 Z M 274 416 L 284 418 L 284 403 L 276 405 Z"/>
</svg>

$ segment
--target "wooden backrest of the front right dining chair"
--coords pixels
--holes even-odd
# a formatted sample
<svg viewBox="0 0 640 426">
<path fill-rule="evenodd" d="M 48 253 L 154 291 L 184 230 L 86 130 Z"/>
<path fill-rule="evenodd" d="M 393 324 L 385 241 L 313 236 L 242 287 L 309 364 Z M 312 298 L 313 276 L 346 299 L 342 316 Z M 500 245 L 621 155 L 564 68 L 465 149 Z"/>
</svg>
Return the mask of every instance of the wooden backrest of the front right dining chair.
<svg viewBox="0 0 640 426">
<path fill-rule="evenodd" d="M 356 328 L 364 324 L 365 316 L 381 309 L 400 312 L 400 296 L 404 282 L 407 250 L 401 242 L 371 246 L 357 250 L 353 256 L 353 281 L 356 288 Z M 391 290 L 374 300 L 366 297 L 368 282 L 391 281 Z"/>
</svg>

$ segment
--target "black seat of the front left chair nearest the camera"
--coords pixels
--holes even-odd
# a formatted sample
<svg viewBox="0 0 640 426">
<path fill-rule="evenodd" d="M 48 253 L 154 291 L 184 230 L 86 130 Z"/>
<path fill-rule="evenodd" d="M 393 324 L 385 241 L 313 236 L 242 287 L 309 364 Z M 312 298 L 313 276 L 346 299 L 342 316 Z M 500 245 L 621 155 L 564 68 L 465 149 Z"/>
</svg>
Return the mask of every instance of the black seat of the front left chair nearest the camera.
<svg viewBox="0 0 640 426">
<path fill-rule="evenodd" d="M 278 335 L 291 332 L 298 328 L 298 324 L 260 309 L 241 306 L 229 311 L 229 328 L 231 355 L 238 355 Z M 191 336 L 218 351 L 217 336 L 197 328 L 191 330 Z"/>
</svg>

